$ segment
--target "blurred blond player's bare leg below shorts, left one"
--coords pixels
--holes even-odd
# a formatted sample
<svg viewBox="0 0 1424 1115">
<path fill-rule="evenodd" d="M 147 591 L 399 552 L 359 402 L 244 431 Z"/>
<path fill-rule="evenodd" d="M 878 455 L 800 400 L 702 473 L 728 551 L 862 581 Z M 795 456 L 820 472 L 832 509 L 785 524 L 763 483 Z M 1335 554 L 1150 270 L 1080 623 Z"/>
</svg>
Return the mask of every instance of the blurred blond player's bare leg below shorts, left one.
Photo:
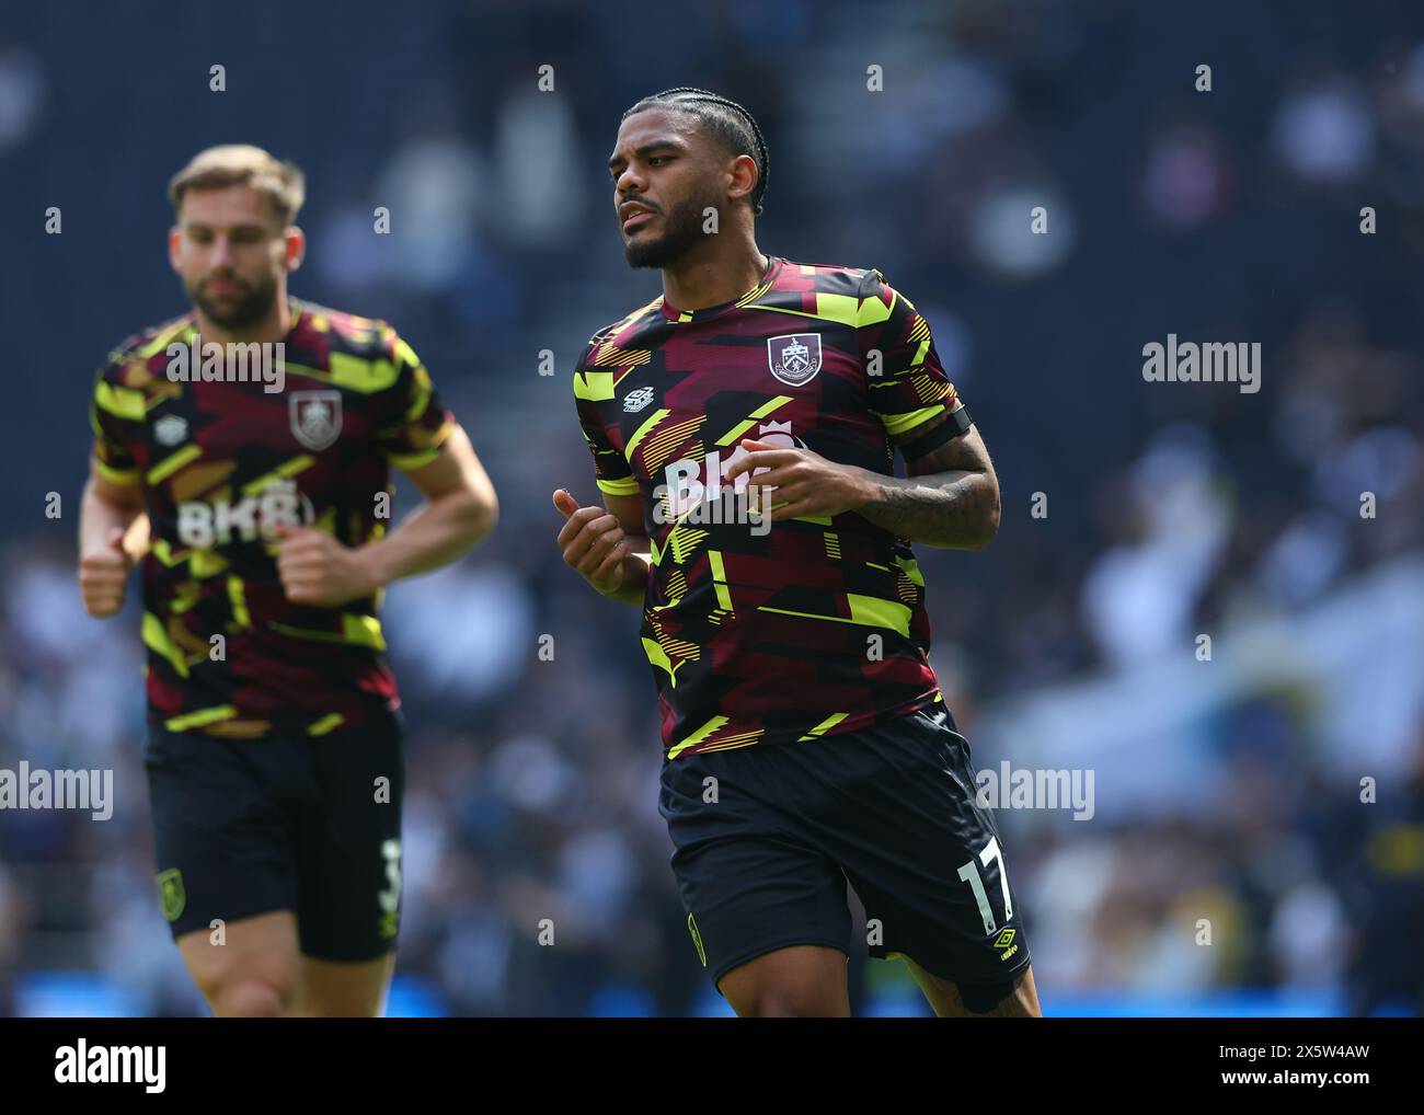
<svg viewBox="0 0 1424 1115">
<path fill-rule="evenodd" d="M 178 951 L 218 1017 L 276 1017 L 292 1005 L 299 953 L 296 917 L 289 910 L 184 933 Z"/>
</svg>

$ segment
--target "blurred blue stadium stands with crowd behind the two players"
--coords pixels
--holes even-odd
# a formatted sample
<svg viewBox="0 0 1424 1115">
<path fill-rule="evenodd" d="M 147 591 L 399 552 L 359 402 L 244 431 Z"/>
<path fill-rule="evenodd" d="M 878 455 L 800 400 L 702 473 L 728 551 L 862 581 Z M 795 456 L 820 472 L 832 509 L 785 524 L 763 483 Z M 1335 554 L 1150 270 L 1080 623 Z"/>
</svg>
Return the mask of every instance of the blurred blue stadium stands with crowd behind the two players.
<svg viewBox="0 0 1424 1115">
<path fill-rule="evenodd" d="M 561 564 L 550 504 L 557 486 L 595 497 L 580 346 L 658 289 L 622 261 L 604 159 L 622 110 L 679 84 L 758 115 L 762 248 L 884 271 L 994 454 L 995 543 L 918 555 L 975 765 L 1095 776 L 1091 820 L 998 815 L 1045 1011 L 1420 1011 L 1418 11 L 444 0 L 4 20 L 0 766 L 111 768 L 118 802 L 108 822 L 0 813 L 0 1012 L 202 1010 L 152 884 L 135 594 L 87 618 L 73 540 L 91 375 L 185 309 L 167 179 L 238 141 L 308 174 L 293 292 L 409 337 L 503 504 L 488 544 L 387 598 L 413 726 L 392 1012 L 725 1011 L 668 869 L 635 612 Z M 372 234 L 376 205 L 393 235 Z M 1260 342 L 1263 389 L 1145 383 L 1142 346 L 1168 333 Z M 850 974 L 857 1012 L 926 1011 L 899 963 L 862 950 Z"/>
</svg>

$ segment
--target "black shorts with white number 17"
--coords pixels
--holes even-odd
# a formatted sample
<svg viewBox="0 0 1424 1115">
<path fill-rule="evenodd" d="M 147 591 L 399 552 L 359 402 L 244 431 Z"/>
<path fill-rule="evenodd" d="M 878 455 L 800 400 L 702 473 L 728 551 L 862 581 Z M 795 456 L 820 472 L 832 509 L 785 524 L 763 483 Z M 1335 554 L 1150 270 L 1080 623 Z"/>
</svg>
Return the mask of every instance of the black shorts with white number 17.
<svg viewBox="0 0 1424 1115">
<path fill-rule="evenodd" d="M 793 944 L 849 957 L 847 880 L 873 957 L 906 956 L 965 1001 L 1028 967 L 994 812 L 975 802 L 968 740 L 943 703 L 806 743 L 665 760 L 658 812 L 713 983 Z"/>
</svg>

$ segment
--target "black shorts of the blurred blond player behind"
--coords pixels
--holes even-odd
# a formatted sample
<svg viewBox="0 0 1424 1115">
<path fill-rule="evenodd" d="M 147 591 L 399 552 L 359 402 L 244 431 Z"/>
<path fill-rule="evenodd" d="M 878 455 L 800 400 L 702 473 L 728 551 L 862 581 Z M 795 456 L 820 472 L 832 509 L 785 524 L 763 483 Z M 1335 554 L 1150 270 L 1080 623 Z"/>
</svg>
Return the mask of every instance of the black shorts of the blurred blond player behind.
<svg viewBox="0 0 1424 1115">
<path fill-rule="evenodd" d="M 400 918 L 400 713 L 322 736 L 150 726 L 154 854 L 174 938 L 290 910 L 302 953 L 376 960 Z M 384 783 L 377 779 L 386 779 Z"/>
</svg>

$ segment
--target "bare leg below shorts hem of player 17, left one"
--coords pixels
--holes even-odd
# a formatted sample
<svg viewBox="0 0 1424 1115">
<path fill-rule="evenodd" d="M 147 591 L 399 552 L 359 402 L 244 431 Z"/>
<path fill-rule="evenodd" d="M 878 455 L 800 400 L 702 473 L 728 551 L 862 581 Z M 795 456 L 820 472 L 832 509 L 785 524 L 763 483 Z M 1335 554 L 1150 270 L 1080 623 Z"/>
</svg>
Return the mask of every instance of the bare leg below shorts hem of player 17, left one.
<svg viewBox="0 0 1424 1115">
<path fill-rule="evenodd" d="M 797 944 L 763 953 L 722 977 L 718 990 L 740 1018 L 849 1018 L 846 954 Z"/>
</svg>

